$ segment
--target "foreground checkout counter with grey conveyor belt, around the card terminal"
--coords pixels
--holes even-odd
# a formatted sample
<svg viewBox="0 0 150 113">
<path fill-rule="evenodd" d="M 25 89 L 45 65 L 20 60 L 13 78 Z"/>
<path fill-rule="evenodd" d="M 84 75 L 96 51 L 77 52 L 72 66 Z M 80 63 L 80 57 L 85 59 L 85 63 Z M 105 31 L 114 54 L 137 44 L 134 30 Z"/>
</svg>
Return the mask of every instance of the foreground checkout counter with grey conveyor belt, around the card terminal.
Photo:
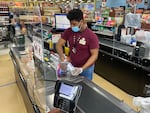
<svg viewBox="0 0 150 113">
<path fill-rule="evenodd" d="M 18 47 L 12 47 L 10 56 L 14 64 L 17 85 L 28 113 L 50 111 L 53 108 L 55 82 L 46 80 L 57 79 L 55 69 L 48 63 L 42 64 L 35 60 L 35 64 L 41 66 L 39 69 L 46 69 L 45 75 L 42 73 L 43 71 L 38 70 L 41 76 L 37 77 L 40 74 L 35 74 L 36 68 L 33 67 L 33 61 L 27 59 L 30 56 L 29 53 L 22 53 Z M 118 100 L 92 81 L 80 76 L 70 80 L 83 87 L 76 113 L 136 113 L 124 102 Z"/>
</svg>

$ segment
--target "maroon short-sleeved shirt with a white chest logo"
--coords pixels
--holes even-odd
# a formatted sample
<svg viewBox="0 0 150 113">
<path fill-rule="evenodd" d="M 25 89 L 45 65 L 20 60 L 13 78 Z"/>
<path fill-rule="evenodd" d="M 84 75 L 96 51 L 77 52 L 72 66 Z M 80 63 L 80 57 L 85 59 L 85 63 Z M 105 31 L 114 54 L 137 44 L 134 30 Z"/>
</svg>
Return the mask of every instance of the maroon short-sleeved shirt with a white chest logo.
<svg viewBox="0 0 150 113">
<path fill-rule="evenodd" d="M 69 44 L 71 63 L 75 67 L 81 67 L 87 62 L 91 56 L 90 49 L 99 48 L 98 37 L 89 28 L 77 33 L 68 28 L 62 38 Z"/>
</svg>

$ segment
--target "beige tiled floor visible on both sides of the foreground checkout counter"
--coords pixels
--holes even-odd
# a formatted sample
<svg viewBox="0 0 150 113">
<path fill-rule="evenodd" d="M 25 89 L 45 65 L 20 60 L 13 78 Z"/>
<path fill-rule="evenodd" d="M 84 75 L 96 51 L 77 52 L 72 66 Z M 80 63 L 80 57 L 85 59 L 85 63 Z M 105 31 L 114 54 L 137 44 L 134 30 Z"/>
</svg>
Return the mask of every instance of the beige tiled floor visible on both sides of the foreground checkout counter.
<svg viewBox="0 0 150 113">
<path fill-rule="evenodd" d="M 27 113 L 22 96 L 15 83 L 13 64 L 8 51 L 7 49 L 3 52 L 0 51 L 0 113 Z M 132 104 L 132 96 L 96 74 L 94 74 L 93 82 L 137 110 Z"/>
</svg>

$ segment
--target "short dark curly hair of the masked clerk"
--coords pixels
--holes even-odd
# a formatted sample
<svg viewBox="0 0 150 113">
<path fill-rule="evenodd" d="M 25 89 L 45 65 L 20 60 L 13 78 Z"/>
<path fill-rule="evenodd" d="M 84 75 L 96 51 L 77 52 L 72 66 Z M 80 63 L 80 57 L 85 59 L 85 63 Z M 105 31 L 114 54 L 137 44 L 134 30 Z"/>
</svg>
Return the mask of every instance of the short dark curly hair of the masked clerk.
<svg viewBox="0 0 150 113">
<path fill-rule="evenodd" d="M 80 21 L 83 19 L 83 12 L 80 9 L 72 9 L 67 14 L 67 18 L 72 21 Z"/>
</svg>

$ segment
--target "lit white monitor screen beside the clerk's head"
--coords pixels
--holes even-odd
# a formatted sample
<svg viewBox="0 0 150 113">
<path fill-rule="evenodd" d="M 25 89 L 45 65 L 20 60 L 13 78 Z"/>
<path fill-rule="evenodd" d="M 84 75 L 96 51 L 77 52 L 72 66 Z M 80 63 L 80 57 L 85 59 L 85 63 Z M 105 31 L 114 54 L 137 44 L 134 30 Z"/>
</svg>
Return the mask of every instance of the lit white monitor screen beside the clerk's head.
<svg viewBox="0 0 150 113">
<path fill-rule="evenodd" d="M 67 14 L 55 14 L 55 27 L 56 30 L 65 30 L 70 27 Z"/>
</svg>

